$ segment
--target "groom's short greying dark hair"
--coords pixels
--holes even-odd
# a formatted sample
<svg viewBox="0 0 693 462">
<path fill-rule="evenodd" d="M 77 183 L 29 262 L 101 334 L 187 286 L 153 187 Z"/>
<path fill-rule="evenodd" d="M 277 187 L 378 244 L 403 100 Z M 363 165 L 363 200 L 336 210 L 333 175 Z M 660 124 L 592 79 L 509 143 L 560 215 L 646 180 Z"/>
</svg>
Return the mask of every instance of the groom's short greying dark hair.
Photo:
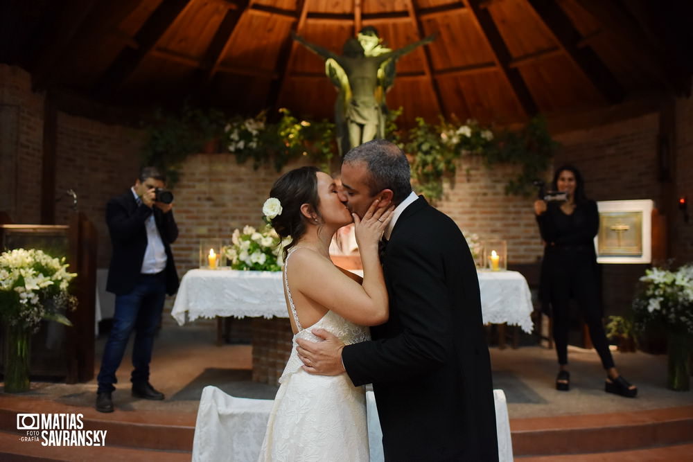
<svg viewBox="0 0 693 462">
<path fill-rule="evenodd" d="M 370 174 L 366 182 L 371 196 L 383 189 L 391 189 L 394 193 L 392 202 L 398 205 L 412 192 L 409 162 L 396 144 L 374 139 L 351 148 L 342 159 L 342 163 L 350 165 L 359 162 L 366 164 Z"/>
</svg>

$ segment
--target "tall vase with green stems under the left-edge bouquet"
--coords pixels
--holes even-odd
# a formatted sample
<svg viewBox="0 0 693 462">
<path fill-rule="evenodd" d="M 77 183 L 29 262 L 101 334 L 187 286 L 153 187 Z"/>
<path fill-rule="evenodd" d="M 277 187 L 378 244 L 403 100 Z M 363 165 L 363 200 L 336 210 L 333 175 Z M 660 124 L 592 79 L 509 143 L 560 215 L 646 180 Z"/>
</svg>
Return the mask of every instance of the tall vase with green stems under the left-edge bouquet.
<svg viewBox="0 0 693 462">
<path fill-rule="evenodd" d="M 29 390 L 31 363 L 31 330 L 22 326 L 7 326 L 5 330 L 5 393 Z"/>
</svg>

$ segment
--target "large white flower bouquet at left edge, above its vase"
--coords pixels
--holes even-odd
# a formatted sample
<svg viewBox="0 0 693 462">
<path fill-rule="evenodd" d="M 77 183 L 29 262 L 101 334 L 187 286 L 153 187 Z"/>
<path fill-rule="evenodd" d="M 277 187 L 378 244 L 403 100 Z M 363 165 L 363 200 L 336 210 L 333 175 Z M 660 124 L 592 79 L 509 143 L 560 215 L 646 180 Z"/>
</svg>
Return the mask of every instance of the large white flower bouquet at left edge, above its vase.
<svg viewBox="0 0 693 462">
<path fill-rule="evenodd" d="M 0 255 L 0 319 L 10 326 L 37 329 L 42 319 L 71 323 L 62 314 L 76 308 L 68 292 L 76 273 L 67 272 L 65 258 L 37 249 L 13 249 Z"/>
</svg>

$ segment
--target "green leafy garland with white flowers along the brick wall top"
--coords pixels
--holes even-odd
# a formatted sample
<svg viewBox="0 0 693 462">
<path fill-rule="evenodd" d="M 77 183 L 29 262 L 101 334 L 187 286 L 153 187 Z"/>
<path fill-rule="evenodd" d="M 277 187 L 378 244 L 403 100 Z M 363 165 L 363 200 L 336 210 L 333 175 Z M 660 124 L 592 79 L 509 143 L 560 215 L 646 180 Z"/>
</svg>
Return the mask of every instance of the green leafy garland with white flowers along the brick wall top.
<svg viewBox="0 0 693 462">
<path fill-rule="evenodd" d="M 494 132 L 474 120 L 462 124 L 443 117 L 435 125 L 416 118 L 414 127 L 402 131 L 395 123 L 401 112 L 400 108 L 387 115 L 387 139 L 407 153 L 417 190 L 432 201 L 442 197 L 443 179 L 454 175 L 458 159 L 465 155 L 482 157 L 488 168 L 499 163 L 520 166 L 520 173 L 508 180 L 505 193 L 528 196 L 534 190 L 532 182 L 543 176 L 557 147 L 541 116 L 516 131 Z M 251 118 L 225 118 L 214 109 L 204 112 L 184 107 L 179 114 L 159 110 L 146 129 L 143 162 L 166 168 L 169 184 L 175 184 L 188 154 L 200 152 L 211 139 L 220 140 L 238 163 L 252 159 L 256 169 L 273 165 L 279 171 L 290 161 L 307 157 L 330 171 L 337 152 L 333 123 L 299 120 L 288 109 L 279 109 L 277 123 L 268 123 L 264 111 Z"/>
</svg>

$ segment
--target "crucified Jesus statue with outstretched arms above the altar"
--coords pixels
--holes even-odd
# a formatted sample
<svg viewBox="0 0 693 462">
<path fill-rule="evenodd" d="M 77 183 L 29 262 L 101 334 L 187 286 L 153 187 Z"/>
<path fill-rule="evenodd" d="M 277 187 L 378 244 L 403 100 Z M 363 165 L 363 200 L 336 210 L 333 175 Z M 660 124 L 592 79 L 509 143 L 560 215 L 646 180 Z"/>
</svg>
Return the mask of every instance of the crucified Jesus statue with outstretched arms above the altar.
<svg viewBox="0 0 693 462">
<path fill-rule="evenodd" d="M 365 28 L 359 33 L 359 39 L 351 38 L 344 43 L 342 55 L 311 44 L 299 35 L 293 37 L 325 60 L 325 73 L 337 87 L 337 145 L 344 154 L 376 136 L 385 137 L 385 91 L 392 87 L 394 62 L 417 46 L 432 42 L 435 35 L 390 51 L 379 45 L 374 28 Z M 367 50 L 362 42 L 367 44 Z"/>
</svg>

